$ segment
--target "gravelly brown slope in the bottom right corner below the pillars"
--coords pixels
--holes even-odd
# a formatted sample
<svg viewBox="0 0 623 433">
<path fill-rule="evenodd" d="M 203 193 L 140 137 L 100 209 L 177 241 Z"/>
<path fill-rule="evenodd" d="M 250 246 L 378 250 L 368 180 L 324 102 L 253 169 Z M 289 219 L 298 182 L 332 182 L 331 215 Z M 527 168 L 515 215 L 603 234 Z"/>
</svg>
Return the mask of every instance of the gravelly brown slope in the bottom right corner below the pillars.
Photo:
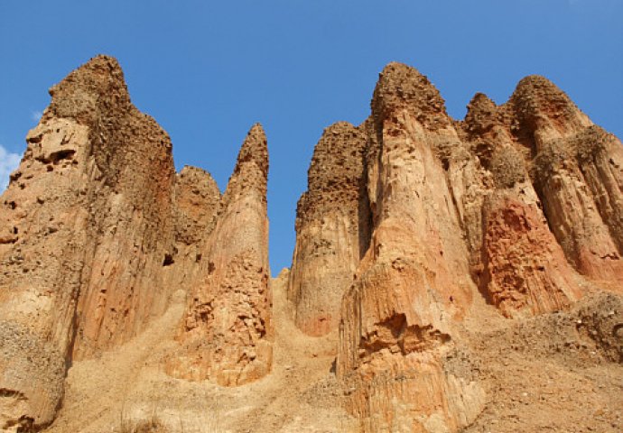
<svg viewBox="0 0 623 433">
<path fill-rule="evenodd" d="M 623 364 L 614 355 L 623 353 L 623 338 L 618 347 L 601 340 L 623 317 L 616 299 L 589 295 L 568 312 L 472 329 L 471 372 L 484 383 L 488 404 L 464 431 L 623 431 Z"/>
</svg>

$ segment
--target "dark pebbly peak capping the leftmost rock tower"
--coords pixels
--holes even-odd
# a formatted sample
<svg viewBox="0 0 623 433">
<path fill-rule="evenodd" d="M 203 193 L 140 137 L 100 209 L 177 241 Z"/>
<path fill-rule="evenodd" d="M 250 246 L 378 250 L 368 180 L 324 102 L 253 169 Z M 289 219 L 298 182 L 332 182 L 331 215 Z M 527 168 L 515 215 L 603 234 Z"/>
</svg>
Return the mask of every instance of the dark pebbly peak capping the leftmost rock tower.
<svg viewBox="0 0 623 433">
<path fill-rule="evenodd" d="M 131 106 L 124 73 L 113 57 L 98 55 L 50 88 L 48 116 L 88 124 L 98 112 Z"/>
</svg>

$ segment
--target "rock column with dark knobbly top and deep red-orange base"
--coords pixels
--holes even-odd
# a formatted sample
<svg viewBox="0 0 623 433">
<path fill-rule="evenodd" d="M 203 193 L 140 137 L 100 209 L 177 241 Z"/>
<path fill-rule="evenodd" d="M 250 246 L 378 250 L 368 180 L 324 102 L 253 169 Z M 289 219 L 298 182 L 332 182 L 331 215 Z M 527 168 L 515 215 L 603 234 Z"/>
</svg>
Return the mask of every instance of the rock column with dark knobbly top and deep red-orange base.
<svg viewBox="0 0 623 433">
<path fill-rule="evenodd" d="M 568 307 L 581 296 L 578 276 L 541 210 L 527 170 L 530 147 L 511 133 L 506 107 L 477 95 L 468 108 L 463 127 L 491 180 L 480 201 L 482 291 L 507 317 Z"/>
</svg>

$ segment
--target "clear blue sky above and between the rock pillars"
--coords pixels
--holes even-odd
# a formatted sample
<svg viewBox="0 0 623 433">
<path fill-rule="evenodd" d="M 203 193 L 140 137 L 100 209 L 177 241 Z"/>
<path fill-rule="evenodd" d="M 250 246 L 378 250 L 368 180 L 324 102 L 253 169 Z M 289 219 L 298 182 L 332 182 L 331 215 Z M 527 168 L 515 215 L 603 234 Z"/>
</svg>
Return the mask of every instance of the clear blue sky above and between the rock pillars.
<svg viewBox="0 0 623 433">
<path fill-rule="evenodd" d="M 0 0 L 0 188 L 47 89 L 115 56 L 136 106 L 171 135 L 176 166 L 224 189 L 247 130 L 265 126 L 273 272 L 291 262 L 296 200 L 322 129 L 369 113 L 378 72 L 402 61 L 450 114 L 498 104 L 542 74 L 623 136 L 622 0 Z"/>
</svg>

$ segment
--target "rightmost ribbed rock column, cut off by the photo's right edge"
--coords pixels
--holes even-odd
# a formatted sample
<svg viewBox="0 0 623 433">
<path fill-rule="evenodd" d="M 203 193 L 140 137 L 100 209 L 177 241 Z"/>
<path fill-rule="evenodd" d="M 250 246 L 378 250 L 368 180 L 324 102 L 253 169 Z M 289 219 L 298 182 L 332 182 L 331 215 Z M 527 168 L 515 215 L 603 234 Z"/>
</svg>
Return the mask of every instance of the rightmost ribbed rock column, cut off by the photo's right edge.
<svg viewBox="0 0 623 433">
<path fill-rule="evenodd" d="M 567 259 L 595 281 L 623 281 L 623 146 L 543 77 L 507 109 L 534 146 L 535 187 Z"/>
</svg>

